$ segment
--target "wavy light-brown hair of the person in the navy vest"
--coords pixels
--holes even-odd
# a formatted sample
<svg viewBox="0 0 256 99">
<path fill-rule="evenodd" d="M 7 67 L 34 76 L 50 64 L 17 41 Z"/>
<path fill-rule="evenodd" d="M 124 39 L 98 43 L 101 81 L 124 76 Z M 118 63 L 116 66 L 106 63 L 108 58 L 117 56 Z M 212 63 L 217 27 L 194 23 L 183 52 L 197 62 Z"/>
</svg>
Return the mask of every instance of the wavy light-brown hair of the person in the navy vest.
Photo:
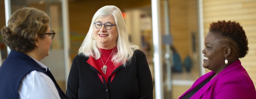
<svg viewBox="0 0 256 99">
<path fill-rule="evenodd" d="M 25 7 L 16 10 L 1 29 L 3 41 L 17 52 L 30 52 L 35 49 L 37 37 L 45 38 L 49 28 L 49 16 L 36 8 Z"/>
</svg>

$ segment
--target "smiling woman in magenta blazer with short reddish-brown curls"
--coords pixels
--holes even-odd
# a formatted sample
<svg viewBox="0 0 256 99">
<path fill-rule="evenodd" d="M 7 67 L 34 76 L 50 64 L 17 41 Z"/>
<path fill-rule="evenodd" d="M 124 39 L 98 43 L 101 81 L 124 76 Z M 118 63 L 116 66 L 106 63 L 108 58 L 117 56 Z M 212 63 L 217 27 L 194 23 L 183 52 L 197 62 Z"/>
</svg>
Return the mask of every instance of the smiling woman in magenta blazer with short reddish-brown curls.
<svg viewBox="0 0 256 99">
<path fill-rule="evenodd" d="M 240 23 L 212 22 L 204 45 L 203 67 L 211 72 L 198 78 L 179 99 L 256 99 L 254 84 L 239 60 L 248 53 Z"/>
</svg>

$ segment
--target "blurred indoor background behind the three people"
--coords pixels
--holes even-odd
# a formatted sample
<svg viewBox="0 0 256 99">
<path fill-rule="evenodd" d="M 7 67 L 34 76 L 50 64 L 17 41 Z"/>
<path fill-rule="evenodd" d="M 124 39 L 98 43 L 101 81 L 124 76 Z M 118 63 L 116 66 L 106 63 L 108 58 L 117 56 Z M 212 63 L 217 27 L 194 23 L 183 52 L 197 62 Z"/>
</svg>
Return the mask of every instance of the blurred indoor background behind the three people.
<svg viewBox="0 0 256 99">
<path fill-rule="evenodd" d="M 93 14 L 105 5 L 120 8 L 130 40 L 146 54 L 155 99 L 177 99 L 198 77 L 209 72 L 202 67 L 201 50 L 209 24 L 218 20 L 235 20 L 245 29 L 249 53 L 240 60 L 256 85 L 256 0 L 0 0 L 0 27 L 22 7 L 45 11 L 57 34 L 50 55 L 41 62 L 51 69 L 65 92 L 72 59 Z M 4 61 L 8 49 L 2 35 L 0 48 Z"/>
</svg>

